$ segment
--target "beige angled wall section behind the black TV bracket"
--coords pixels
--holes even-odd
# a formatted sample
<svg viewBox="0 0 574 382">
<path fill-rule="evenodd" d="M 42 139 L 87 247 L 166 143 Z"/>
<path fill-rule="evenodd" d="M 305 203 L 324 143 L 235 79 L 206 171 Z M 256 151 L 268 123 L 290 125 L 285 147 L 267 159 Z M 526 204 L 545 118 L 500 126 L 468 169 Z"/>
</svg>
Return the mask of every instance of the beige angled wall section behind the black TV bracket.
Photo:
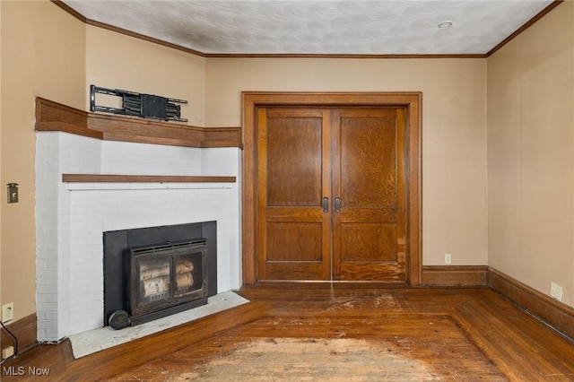
<svg viewBox="0 0 574 382">
<path fill-rule="evenodd" d="M 88 86 L 187 100 L 181 117 L 193 126 L 204 126 L 204 65 L 200 56 L 93 26 L 86 30 Z"/>
</svg>

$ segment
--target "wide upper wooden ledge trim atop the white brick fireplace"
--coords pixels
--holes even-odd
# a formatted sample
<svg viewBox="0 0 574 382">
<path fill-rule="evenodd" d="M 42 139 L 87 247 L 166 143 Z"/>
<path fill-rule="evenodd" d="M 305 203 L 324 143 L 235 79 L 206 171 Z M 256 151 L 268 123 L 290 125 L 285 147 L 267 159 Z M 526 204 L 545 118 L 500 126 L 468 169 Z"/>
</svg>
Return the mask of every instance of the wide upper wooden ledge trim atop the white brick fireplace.
<svg viewBox="0 0 574 382">
<path fill-rule="evenodd" d="M 89 113 L 36 98 L 36 131 L 61 131 L 106 141 L 186 147 L 242 147 L 240 127 L 197 127 L 139 117 Z"/>
</svg>

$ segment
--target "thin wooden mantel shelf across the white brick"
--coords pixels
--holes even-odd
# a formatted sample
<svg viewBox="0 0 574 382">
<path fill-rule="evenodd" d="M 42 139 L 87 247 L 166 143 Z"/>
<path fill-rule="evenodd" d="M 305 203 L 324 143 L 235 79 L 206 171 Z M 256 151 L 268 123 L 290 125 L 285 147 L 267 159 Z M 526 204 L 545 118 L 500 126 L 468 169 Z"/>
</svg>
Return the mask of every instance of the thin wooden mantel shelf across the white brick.
<svg viewBox="0 0 574 382">
<path fill-rule="evenodd" d="M 235 183 L 235 177 L 62 174 L 65 183 Z"/>
</svg>

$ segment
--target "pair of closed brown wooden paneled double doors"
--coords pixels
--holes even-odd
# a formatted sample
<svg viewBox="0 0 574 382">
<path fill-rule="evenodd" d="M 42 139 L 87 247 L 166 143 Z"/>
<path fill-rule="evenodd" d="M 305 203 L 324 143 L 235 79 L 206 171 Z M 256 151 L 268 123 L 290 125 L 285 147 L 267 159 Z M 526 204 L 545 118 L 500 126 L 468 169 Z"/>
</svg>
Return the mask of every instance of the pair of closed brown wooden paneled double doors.
<svg viewBox="0 0 574 382">
<path fill-rule="evenodd" d="M 257 279 L 407 279 L 399 107 L 257 108 Z"/>
</svg>

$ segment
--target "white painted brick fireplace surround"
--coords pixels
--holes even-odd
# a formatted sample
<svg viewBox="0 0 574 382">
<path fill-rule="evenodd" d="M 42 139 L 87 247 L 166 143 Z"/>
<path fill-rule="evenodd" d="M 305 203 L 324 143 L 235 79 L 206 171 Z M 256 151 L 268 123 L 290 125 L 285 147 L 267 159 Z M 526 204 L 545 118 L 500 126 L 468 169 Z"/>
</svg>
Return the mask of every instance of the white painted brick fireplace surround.
<svg viewBox="0 0 574 382">
<path fill-rule="evenodd" d="M 218 291 L 240 286 L 240 150 L 37 132 L 38 340 L 104 326 L 108 230 L 217 221 Z M 236 183 L 65 183 L 62 174 L 231 176 Z"/>
</svg>

